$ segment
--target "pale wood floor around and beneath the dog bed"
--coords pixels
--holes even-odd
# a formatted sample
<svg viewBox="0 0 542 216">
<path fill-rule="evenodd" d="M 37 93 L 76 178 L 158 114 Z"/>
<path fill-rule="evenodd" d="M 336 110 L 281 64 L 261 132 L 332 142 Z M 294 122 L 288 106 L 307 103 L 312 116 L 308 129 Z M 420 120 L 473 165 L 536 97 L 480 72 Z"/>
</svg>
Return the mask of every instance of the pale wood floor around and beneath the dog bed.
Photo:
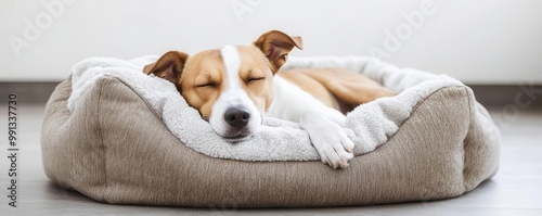
<svg viewBox="0 0 542 216">
<path fill-rule="evenodd" d="M 53 185 L 41 166 L 42 105 L 20 105 L 21 143 L 18 207 L 8 205 L 8 109 L 0 105 L 0 215 L 542 215 L 542 109 L 499 117 L 502 128 L 501 168 L 493 179 L 463 196 L 376 206 L 330 208 L 207 209 L 127 206 L 98 203 Z"/>
</svg>

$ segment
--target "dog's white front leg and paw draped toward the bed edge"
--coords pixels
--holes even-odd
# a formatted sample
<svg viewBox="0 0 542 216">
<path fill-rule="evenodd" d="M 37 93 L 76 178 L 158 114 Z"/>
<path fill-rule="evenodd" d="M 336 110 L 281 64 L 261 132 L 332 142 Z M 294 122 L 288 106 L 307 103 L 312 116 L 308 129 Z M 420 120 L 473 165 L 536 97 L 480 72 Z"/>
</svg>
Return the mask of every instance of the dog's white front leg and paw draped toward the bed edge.
<svg viewBox="0 0 542 216">
<path fill-rule="evenodd" d="M 354 144 L 341 128 L 345 115 L 281 77 L 275 78 L 275 100 L 267 114 L 299 123 L 324 164 L 347 167 L 353 158 Z"/>
</svg>

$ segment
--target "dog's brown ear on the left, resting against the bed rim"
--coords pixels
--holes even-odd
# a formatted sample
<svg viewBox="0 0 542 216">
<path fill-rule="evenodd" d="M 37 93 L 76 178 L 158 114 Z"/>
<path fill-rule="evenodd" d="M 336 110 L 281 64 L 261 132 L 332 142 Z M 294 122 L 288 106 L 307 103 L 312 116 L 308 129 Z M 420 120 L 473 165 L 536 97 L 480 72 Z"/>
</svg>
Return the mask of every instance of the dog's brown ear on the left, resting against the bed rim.
<svg viewBox="0 0 542 216">
<path fill-rule="evenodd" d="M 149 64 L 143 68 L 145 74 L 154 74 L 157 77 L 177 82 L 181 76 L 184 63 L 189 55 L 184 52 L 169 51 L 162 55 L 155 63 Z"/>
</svg>

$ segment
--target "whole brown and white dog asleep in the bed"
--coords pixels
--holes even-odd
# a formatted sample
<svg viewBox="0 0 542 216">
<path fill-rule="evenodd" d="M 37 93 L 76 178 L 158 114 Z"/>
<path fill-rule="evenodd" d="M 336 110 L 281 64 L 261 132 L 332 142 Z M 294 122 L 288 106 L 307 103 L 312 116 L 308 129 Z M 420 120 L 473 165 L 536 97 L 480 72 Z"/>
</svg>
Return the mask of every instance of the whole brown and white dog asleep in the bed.
<svg viewBox="0 0 542 216">
<path fill-rule="evenodd" d="M 395 93 L 346 69 L 279 71 L 300 37 L 272 30 L 250 46 L 225 46 L 189 56 L 170 51 L 144 67 L 173 82 L 212 129 L 231 142 L 247 140 L 264 116 L 297 122 L 323 163 L 347 167 L 353 142 L 341 129 L 345 112 Z"/>
</svg>

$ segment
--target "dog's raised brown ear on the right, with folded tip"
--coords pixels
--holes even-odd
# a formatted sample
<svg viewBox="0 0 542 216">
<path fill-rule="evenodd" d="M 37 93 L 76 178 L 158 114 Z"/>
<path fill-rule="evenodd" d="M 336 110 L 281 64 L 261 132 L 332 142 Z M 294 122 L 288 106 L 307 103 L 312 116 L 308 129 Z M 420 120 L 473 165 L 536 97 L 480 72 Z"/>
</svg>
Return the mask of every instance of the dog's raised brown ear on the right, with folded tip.
<svg viewBox="0 0 542 216">
<path fill-rule="evenodd" d="M 301 37 L 291 37 L 279 30 L 264 33 L 254 45 L 268 58 L 273 73 L 276 73 L 286 63 L 288 53 L 294 47 L 302 50 Z"/>
</svg>

